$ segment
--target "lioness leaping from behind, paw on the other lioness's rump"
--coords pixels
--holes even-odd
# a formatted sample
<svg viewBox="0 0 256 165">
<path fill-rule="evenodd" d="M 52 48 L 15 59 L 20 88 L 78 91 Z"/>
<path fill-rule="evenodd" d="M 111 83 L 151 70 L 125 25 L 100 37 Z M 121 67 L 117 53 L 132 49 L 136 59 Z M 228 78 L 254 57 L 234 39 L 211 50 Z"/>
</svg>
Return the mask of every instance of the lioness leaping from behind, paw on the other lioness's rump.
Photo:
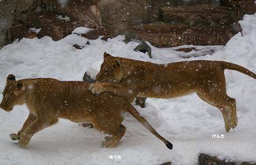
<svg viewBox="0 0 256 165">
<path fill-rule="evenodd" d="M 92 93 L 112 92 L 133 102 L 136 96 L 174 98 L 196 92 L 206 103 L 220 109 L 225 129 L 237 127 L 235 99 L 226 93 L 224 69 L 232 69 L 256 79 L 256 74 L 237 64 L 223 61 L 184 61 L 155 64 L 113 57 L 104 53 L 97 83 Z"/>
</svg>

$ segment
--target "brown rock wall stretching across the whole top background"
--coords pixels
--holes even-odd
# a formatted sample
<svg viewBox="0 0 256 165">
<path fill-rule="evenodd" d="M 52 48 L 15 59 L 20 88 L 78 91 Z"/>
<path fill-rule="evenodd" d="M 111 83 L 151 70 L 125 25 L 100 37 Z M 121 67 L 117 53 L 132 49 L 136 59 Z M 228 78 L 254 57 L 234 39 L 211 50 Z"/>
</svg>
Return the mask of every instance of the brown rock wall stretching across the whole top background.
<svg viewBox="0 0 256 165">
<path fill-rule="evenodd" d="M 230 32 L 229 29 L 235 26 L 232 28 L 230 26 L 241 19 L 244 14 L 255 13 L 256 4 L 254 0 L 223 0 L 223 3 L 216 2 L 220 1 L 0 1 L 0 37 L 2 38 L 0 47 L 8 42 L 8 28 L 22 23 L 27 28 L 42 28 L 41 32 L 37 34 L 38 37 L 48 35 L 54 40 L 61 39 L 70 34 L 70 31 L 75 27 L 85 26 L 93 29 L 103 27 L 110 29 L 114 37 L 118 35 L 120 29 L 134 29 L 144 41 L 149 41 L 154 46 L 161 47 L 178 46 L 180 44 L 225 44 L 234 34 L 234 31 Z M 224 6 L 224 3 L 231 7 Z M 27 13 L 32 12 L 31 14 L 35 14 L 33 11 L 47 11 L 52 14 L 58 14 L 62 18 L 67 14 L 70 21 L 54 22 L 56 19 L 54 21 L 47 21 L 47 15 L 42 15 L 44 19 L 38 19 L 37 22 L 32 21 L 32 18 L 27 17 Z M 28 22 L 26 22 L 27 20 Z M 42 26 L 40 27 L 40 24 L 42 24 L 40 21 L 44 22 L 46 29 L 50 28 L 49 32 Z M 33 24 L 31 24 L 32 22 Z M 160 24 L 159 27 L 154 27 L 154 24 L 159 22 L 164 22 L 165 25 L 169 23 L 169 25 L 172 24 L 173 26 L 168 25 L 168 29 L 165 29 L 165 25 L 161 26 Z M 151 24 L 153 26 L 150 29 Z M 141 28 L 140 26 L 143 26 L 142 28 L 145 30 L 139 29 Z M 149 27 L 145 28 L 145 26 Z M 227 30 L 224 32 L 225 28 Z M 149 31 L 151 32 L 149 33 Z M 213 31 L 213 36 L 209 35 L 211 31 Z M 27 33 L 27 36 L 29 36 L 29 32 L 22 33 Z M 11 34 L 11 36 L 16 35 Z M 208 41 L 207 38 L 209 38 Z"/>
</svg>

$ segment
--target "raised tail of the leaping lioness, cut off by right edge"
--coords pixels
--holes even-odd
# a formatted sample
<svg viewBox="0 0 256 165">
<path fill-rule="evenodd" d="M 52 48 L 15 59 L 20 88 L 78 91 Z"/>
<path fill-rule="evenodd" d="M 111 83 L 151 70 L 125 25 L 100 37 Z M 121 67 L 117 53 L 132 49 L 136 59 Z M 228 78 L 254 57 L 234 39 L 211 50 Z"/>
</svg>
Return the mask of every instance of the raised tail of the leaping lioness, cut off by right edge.
<svg viewBox="0 0 256 165">
<path fill-rule="evenodd" d="M 239 66 L 237 64 L 224 62 L 224 61 L 220 61 L 220 64 L 224 69 L 230 69 L 230 70 L 238 71 L 238 72 L 244 73 L 244 74 L 256 79 L 256 74 L 253 73 L 252 71 L 249 71 L 247 68 L 244 68 L 244 67 Z"/>
</svg>

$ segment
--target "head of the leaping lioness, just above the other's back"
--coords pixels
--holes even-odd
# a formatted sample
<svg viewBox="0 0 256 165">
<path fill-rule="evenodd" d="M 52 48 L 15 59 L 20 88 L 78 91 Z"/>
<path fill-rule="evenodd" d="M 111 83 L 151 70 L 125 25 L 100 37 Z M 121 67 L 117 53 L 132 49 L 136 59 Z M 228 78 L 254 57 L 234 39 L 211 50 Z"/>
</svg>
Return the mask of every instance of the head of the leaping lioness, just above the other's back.
<svg viewBox="0 0 256 165">
<path fill-rule="evenodd" d="M 122 64 L 119 57 L 113 57 L 104 53 L 104 62 L 101 64 L 100 72 L 96 76 L 99 82 L 118 83 L 123 77 Z"/>
</svg>

